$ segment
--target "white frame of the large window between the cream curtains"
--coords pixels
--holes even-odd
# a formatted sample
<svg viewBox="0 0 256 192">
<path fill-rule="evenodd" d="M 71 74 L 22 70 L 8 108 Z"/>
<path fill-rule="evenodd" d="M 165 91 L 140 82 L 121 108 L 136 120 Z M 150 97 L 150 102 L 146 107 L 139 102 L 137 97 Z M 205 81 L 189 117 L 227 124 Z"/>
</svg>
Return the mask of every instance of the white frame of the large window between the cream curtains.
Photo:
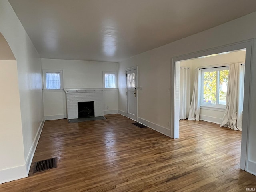
<svg viewBox="0 0 256 192">
<path fill-rule="evenodd" d="M 226 104 L 219 104 L 219 94 L 220 94 L 220 73 L 219 71 L 228 70 L 229 66 L 218 66 L 218 67 L 212 67 L 212 68 L 201 68 L 201 79 L 200 79 L 200 106 L 202 107 L 211 107 L 211 108 L 219 108 L 219 109 L 225 109 Z M 204 103 L 204 72 L 215 72 L 216 71 L 216 104 L 213 103 Z M 229 74 L 229 72 L 228 72 Z"/>
</svg>

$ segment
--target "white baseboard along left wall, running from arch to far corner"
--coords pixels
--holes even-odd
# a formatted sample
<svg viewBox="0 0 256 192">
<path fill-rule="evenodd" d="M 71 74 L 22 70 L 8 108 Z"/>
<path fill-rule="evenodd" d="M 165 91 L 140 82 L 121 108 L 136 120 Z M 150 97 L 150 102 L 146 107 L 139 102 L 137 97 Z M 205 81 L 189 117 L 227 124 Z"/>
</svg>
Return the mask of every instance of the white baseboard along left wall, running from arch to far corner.
<svg viewBox="0 0 256 192">
<path fill-rule="evenodd" d="M 34 154 L 36 152 L 36 147 L 37 147 L 37 144 L 38 144 L 38 141 L 39 141 L 39 138 L 41 136 L 41 133 L 42 133 L 42 130 L 43 130 L 43 127 L 44 127 L 44 122 L 45 120 L 43 119 L 39 128 L 38 128 L 38 131 L 36 133 L 36 136 L 34 138 L 34 141 L 33 141 L 33 144 L 29 150 L 29 153 L 28 153 L 28 157 L 26 159 L 26 170 L 27 170 L 27 175 L 29 173 L 29 170 L 30 170 L 30 167 L 31 167 L 31 163 L 32 163 L 32 160 L 33 160 L 33 157 L 34 157 Z"/>
</svg>

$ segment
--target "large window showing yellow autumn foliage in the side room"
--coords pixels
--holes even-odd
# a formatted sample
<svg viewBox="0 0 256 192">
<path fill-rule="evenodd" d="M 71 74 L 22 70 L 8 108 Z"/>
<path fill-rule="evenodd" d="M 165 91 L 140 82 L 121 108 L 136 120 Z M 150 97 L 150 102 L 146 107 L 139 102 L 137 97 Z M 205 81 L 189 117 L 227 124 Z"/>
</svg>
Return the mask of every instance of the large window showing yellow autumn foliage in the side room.
<svg viewBox="0 0 256 192">
<path fill-rule="evenodd" d="M 229 67 L 201 69 L 201 106 L 225 108 Z"/>
</svg>

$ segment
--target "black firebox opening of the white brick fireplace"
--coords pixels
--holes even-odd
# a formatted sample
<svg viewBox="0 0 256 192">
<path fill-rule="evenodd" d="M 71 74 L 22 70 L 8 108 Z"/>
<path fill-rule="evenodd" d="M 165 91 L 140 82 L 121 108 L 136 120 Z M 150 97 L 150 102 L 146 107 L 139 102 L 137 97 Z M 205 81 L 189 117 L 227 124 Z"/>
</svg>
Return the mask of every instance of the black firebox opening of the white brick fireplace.
<svg viewBox="0 0 256 192">
<path fill-rule="evenodd" d="M 78 118 L 94 117 L 94 101 L 77 102 Z"/>
</svg>

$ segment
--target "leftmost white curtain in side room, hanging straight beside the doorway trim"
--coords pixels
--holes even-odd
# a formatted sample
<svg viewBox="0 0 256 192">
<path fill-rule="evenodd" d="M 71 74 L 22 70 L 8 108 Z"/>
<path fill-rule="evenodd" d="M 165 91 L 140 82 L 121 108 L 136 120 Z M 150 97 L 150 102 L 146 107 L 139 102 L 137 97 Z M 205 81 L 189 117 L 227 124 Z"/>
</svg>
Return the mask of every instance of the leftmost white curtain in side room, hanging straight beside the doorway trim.
<svg viewBox="0 0 256 192">
<path fill-rule="evenodd" d="M 190 107 L 190 68 L 180 68 L 180 120 L 188 118 Z"/>
</svg>

